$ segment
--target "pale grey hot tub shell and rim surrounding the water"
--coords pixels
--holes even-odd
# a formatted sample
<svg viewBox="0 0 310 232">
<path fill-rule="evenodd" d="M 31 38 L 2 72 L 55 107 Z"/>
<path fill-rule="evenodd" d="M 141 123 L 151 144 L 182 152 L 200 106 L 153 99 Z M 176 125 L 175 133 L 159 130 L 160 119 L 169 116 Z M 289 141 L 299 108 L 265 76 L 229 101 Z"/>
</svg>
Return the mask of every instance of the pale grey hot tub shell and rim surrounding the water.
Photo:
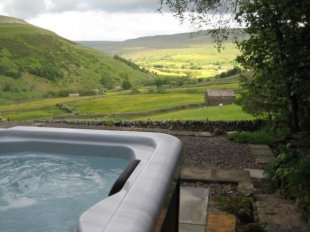
<svg viewBox="0 0 310 232">
<path fill-rule="evenodd" d="M 100 161 L 101 156 L 128 163 L 109 195 L 81 212 L 75 230 L 178 231 L 179 171 L 183 157 L 182 144 L 177 138 L 144 132 L 44 127 L 0 129 L 0 158 L 3 154 L 8 157 L 23 152 L 64 154 L 66 160 L 67 156 L 91 154 L 95 166 L 96 162 L 104 162 Z M 3 182 L 0 180 L 0 187 Z M 0 207 L 0 217 L 7 212 Z"/>
</svg>

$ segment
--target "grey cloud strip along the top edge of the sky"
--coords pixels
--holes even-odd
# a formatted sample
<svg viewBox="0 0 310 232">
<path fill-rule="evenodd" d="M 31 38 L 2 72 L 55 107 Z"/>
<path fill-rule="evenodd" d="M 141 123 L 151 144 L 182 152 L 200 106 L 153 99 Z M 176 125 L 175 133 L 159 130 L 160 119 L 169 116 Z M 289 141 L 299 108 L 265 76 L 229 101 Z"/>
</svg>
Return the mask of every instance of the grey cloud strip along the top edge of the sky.
<svg viewBox="0 0 310 232">
<path fill-rule="evenodd" d="M 12 16 L 32 18 L 67 11 L 155 12 L 160 0 L 2 0 L 1 4 Z"/>
</svg>

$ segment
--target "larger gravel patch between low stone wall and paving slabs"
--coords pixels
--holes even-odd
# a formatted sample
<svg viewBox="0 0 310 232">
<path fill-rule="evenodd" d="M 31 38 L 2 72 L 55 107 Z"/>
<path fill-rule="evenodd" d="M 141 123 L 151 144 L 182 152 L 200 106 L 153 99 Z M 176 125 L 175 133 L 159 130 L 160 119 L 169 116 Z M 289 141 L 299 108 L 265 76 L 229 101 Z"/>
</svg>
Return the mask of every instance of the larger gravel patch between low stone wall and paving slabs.
<svg viewBox="0 0 310 232">
<path fill-rule="evenodd" d="M 248 145 L 238 144 L 224 136 L 178 136 L 184 144 L 185 166 L 203 168 L 254 168 Z"/>
</svg>

